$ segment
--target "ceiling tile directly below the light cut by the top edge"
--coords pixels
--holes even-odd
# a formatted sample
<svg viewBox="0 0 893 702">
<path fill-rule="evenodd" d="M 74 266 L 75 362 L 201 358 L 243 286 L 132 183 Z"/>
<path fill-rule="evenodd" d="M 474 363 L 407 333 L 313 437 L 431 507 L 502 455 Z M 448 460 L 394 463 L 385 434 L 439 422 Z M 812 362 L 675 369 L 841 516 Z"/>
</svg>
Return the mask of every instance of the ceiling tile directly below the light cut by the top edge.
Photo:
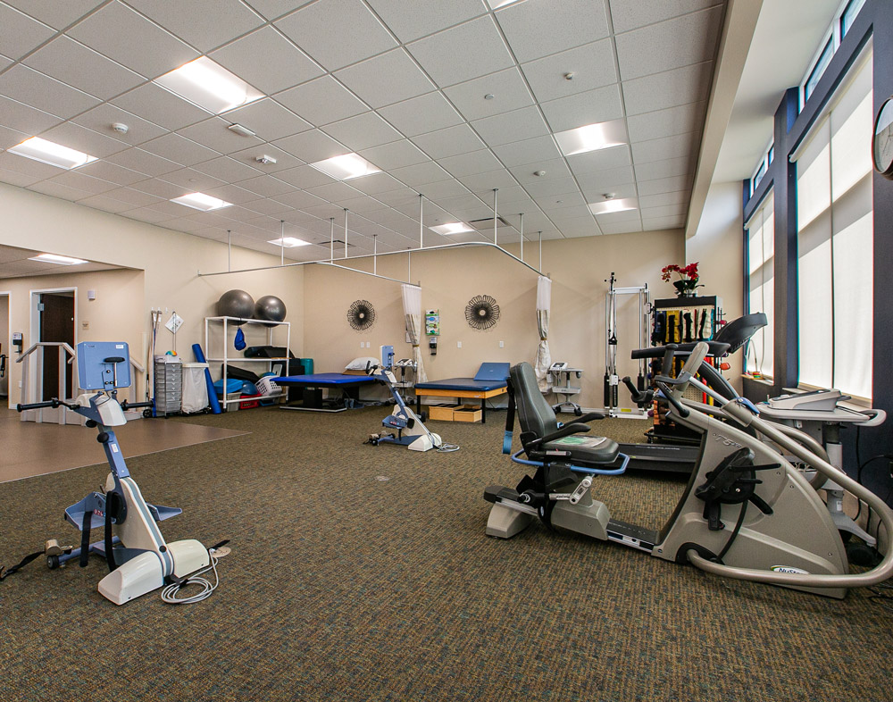
<svg viewBox="0 0 893 702">
<path fill-rule="evenodd" d="M 496 13 L 520 62 L 557 54 L 608 36 L 604 0 L 539 0 Z"/>
</svg>

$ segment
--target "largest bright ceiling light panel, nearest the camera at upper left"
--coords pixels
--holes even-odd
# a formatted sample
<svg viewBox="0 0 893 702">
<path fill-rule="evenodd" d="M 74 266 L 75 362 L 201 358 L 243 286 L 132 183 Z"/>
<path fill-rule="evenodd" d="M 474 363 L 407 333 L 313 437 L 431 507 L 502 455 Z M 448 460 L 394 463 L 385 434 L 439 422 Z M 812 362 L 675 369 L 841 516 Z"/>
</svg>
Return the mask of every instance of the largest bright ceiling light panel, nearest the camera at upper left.
<svg viewBox="0 0 893 702">
<path fill-rule="evenodd" d="M 263 93 L 259 93 L 207 56 L 165 73 L 161 78 L 154 79 L 154 82 L 214 114 L 224 113 L 263 97 Z"/>
</svg>

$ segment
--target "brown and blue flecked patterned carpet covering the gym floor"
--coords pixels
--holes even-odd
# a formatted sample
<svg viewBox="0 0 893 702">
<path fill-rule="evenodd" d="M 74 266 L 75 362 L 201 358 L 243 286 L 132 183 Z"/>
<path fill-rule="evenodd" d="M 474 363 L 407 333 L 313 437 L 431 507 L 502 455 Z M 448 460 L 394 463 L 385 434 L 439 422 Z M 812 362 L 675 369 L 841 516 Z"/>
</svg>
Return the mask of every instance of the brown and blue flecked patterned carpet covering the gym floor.
<svg viewBox="0 0 893 702">
<path fill-rule="evenodd" d="M 505 414 L 430 422 L 461 449 L 418 454 L 363 445 L 387 412 L 165 420 L 250 432 L 129 460 L 146 499 L 183 508 L 166 539 L 231 539 L 220 588 L 191 606 L 153 593 L 117 607 L 96 592 L 98 558 L 30 564 L 0 583 L 0 698 L 891 698 L 893 613 L 871 593 L 721 580 L 540 524 L 489 539 L 483 489 L 522 475 L 500 453 Z M 105 472 L 0 485 L 0 562 L 77 541 L 63 509 Z M 684 483 L 628 474 L 593 489 L 613 517 L 658 528 Z"/>
</svg>

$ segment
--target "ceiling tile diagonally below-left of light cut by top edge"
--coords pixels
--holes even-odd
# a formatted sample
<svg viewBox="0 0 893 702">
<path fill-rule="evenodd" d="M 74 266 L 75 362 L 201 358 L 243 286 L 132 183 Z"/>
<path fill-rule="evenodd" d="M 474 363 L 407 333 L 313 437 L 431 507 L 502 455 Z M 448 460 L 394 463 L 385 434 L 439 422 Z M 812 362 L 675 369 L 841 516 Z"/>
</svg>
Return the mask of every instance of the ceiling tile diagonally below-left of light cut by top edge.
<svg viewBox="0 0 893 702">
<path fill-rule="evenodd" d="M 514 63 L 490 16 L 419 39 L 406 48 L 441 88 Z"/>
</svg>

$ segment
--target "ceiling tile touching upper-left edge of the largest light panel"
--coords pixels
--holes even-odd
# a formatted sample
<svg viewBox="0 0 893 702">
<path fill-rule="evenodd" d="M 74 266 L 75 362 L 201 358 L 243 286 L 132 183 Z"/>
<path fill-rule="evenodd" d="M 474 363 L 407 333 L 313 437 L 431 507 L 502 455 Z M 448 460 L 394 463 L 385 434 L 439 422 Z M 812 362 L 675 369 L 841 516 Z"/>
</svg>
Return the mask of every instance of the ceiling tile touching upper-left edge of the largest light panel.
<svg viewBox="0 0 893 702">
<path fill-rule="evenodd" d="M 195 49 L 118 2 L 105 5 L 67 33 L 150 79 L 198 57 Z"/>
</svg>

